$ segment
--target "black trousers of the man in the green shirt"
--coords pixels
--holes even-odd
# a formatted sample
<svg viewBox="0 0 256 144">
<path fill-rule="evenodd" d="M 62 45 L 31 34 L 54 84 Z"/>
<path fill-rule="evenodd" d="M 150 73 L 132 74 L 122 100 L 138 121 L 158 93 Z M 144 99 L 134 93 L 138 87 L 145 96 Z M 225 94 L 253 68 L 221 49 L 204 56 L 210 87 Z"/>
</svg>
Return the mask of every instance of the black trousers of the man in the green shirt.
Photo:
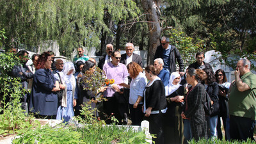
<svg viewBox="0 0 256 144">
<path fill-rule="evenodd" d="M 240 116 L 230 115 L 230 138 L 231 140 L 254 140 L 253 131 L 255 120 Z"/>
</svg>

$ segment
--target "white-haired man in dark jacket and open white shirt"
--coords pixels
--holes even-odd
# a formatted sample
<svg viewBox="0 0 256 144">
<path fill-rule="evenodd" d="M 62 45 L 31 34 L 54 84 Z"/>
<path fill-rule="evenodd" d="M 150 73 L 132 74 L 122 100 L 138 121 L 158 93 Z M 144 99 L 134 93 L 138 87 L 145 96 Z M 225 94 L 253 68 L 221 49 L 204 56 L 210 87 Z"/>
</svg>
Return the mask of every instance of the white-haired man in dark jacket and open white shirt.
<svg viewBox="0 0 256 144">
<path fill-rule="evenodd" d="M 129 63 L 134 61 L 135 63 L 138 63 L 141 67 L 143 67 L 141 56 L 139 54 L 133 53 L 134 45 L 132 43 L 127 43 L 125 45 L 125 51 L 126 53 L 121 55 L 120 63 L 123 63 L 124 65 L 128 65 Z"/>
</svg>

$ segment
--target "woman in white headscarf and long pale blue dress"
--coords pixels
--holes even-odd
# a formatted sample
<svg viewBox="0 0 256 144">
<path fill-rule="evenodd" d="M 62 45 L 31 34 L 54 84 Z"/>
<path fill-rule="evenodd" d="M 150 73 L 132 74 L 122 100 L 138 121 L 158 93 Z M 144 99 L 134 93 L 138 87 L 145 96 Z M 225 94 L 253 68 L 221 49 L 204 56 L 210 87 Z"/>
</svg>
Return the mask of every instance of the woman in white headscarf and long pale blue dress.
<svg viewBox="0 0 256 144">
<path fill-rule="evenodd" d="M 64 64 L 63 72 L 59 72 L 60 77 L 56 77 L 61 79 L 64 85 L 63 87 L 65 87 L 56 118 L 57 120 L 63 119 L 63 122 L 68 122 L 68 120 L 74 116 L 73 107 L 76 106 L 77 99 L 76 79 L 73 75 L 75 72 L 74 64 L 68 62 Z M 54 76 L 56 76 L 56 74 Z"/>
</svg>

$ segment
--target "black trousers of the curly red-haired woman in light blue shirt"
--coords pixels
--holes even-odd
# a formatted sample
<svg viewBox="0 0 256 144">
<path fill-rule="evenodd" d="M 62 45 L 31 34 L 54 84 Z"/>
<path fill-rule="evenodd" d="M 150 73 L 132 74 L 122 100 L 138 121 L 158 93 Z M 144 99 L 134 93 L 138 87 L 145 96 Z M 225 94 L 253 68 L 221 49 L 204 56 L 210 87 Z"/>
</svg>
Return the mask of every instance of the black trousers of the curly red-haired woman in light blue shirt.
<svg viewBox="0 0 256 144">
<path fill-rule="evenodd" d="M 142 112 L 143 104 L 138 104 L 136 109 L 133 108 L 133 104 L 129 104 L 132 125 L 141 125 L 141 122 L 144 117 L 144 113 Z"/>
</svg>

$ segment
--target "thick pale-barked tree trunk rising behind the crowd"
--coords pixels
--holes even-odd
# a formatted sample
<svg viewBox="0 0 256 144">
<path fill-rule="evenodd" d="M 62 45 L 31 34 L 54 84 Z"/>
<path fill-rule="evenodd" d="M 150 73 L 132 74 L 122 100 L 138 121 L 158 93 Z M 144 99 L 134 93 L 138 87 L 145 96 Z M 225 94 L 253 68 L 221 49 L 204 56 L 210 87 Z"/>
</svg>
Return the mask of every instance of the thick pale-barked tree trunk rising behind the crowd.
<svg viewBox="0 0 256 144">
<path fill-rule="evenodd" d="M 156 0 L 141 0 L 141 6 L 145 13 L 148 13 L 146 18 L 148 21 L 149 30 L 149 49 L 148 49 L 148 65 L 154 63 L 154 54 L 156 48 L 160 45 L 161 26 L 160 26 L 160 1 Z"/>
</svg>

